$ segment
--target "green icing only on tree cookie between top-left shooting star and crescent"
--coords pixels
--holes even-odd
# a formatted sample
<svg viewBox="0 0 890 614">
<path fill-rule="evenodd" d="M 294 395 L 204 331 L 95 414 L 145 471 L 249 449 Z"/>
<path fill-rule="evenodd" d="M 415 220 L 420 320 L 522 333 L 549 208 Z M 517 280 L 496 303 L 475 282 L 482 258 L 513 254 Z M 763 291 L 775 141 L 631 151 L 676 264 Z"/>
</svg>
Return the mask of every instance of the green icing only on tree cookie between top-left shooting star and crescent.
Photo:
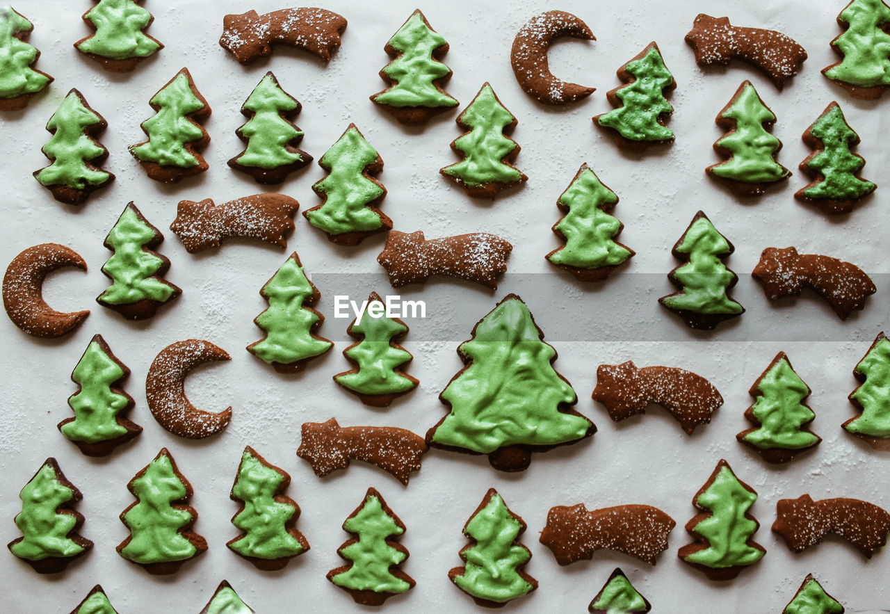
<svg viewBox="0 0 890 614">
<path fill-rule="evenodd" d="M 456 107 L 457 101 L 433 83 L 451 71 L 433 53 L 448 42 L 430 28 L 423 13 L 415 11 L 388 45 L 399 57 L 382 70 L 395 83 L 371 100 L 392 107 Z"/>
</svg>

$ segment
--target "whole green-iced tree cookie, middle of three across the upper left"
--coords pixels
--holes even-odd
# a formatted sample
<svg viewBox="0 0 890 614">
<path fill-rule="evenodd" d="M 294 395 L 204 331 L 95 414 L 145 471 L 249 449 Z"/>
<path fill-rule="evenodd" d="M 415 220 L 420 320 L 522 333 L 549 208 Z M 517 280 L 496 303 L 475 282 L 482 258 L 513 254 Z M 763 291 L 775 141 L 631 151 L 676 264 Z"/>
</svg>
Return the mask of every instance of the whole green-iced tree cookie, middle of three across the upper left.
<svg viewBox="0 0 890 614">
<path fill-rule="evenodd" d="M 204 173 L 208 166 L 199 149 L 210 142 L 200 123 L 210 116 L 210 105 L 182 69 L 149 101 L 156 114 L 142 122 L 149 140 L 130 146 L 145 173 L 156 182 L 174 183 Z"/>
</svg>

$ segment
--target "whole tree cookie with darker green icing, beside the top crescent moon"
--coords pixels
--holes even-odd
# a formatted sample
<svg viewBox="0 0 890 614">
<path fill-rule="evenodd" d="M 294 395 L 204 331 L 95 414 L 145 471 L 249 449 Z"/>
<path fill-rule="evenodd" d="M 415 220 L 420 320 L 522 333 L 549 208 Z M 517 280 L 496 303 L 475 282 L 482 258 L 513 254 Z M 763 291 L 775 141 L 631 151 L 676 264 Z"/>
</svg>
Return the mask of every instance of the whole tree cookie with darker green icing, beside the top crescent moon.
<svg viewBox="0 0 890 614">
<path fill-rule="evenodd" d="M 659 45 L 650 43 L 633 60 L 618 69 L 618 77 L 627 85 L 606 94 L 613 109 L 594 117 L 594 123 L 606 128 L 620 147 L 642 150 L 647 145 L 674 140 L 674 132 L 665 125 L 674 112 L 665 93 L 676 88 L 676 81 L 661 59 Z"/>
</svg>

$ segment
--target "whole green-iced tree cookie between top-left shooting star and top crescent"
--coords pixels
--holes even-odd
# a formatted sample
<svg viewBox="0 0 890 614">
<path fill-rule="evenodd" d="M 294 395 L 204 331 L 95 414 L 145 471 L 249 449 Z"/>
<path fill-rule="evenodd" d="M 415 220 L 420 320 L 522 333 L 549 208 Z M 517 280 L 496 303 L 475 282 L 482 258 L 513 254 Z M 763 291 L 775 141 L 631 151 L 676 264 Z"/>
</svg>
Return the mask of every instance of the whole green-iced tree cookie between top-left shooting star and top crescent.
<svg viewBox="0 0 890 614">
<path fill-rule="evenodd" d="M 433 115 L 457 107 L 442 89 L 451 78 L 451 70 L 441 62 L 448 49 L 420 9 L 411 13 L 384 47 L 394 58 L 380 71 L 389 87 L 371 96 L 371 101 L 402 124 L 425 124 Z"/>
</svg>

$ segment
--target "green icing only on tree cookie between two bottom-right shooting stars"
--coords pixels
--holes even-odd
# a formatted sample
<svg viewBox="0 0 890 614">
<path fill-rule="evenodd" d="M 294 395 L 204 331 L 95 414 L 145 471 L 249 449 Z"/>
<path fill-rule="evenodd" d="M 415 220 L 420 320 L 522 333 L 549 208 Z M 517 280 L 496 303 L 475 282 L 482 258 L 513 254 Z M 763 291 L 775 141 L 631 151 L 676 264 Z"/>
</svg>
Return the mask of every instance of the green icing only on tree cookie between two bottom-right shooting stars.
<svg viewBox="0 0 890 614">
<path fill-rule="evenodd" d="M 692 532 L 704 537 L 708 547 L 684 556 L 684 561 L 713 569 L 753 565 L 764 551 L 748 545 L 757 530 L 757 522 L 746 515 L 757 500 L 756 492 L 746 489 L 728 465 L 720 467 L 696 504 L 710 512 Z"/>
</svg>

